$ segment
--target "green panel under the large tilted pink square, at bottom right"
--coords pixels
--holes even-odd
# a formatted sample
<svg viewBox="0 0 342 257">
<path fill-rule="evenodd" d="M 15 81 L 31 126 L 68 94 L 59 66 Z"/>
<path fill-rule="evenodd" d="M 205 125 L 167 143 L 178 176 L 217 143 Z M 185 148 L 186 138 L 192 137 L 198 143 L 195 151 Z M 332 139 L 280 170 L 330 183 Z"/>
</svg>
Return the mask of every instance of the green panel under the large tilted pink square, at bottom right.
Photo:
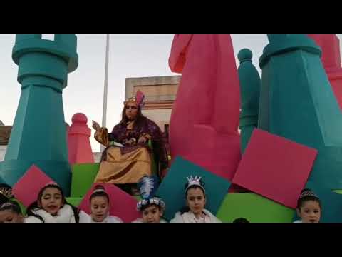
<svg viewBox="0 0 342 257">
<path fill-rule="evenodd" d="M 294 210 L 255 193 L 229 193 L 217 213 L 222 222 L 247 218 L 252 223 L 289 223 Z"/>
</svg>

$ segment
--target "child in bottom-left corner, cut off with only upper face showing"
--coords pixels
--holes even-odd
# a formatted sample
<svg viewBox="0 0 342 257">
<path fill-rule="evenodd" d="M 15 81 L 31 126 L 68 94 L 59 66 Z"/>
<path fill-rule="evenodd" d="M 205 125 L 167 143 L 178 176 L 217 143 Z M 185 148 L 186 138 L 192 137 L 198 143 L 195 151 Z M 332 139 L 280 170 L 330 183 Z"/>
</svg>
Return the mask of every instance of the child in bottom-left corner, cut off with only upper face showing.
<svg viewBox="0 0 342 257">
<path fill-rule="evenodd" d="M 41 223 L 38 218 L 24 218 L 19 203 L 7 201 L 0 206 L 0 223 Z"/>
</svg>

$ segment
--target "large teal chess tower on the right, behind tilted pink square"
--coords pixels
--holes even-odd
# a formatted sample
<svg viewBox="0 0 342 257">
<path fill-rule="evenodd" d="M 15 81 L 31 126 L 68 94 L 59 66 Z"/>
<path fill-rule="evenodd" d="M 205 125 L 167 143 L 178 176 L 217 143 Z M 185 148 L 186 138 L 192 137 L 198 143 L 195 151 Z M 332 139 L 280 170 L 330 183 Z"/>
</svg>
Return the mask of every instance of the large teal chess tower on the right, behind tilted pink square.
<svg viewBox="0 0 342 257">
<path fill-rule="evenodd" d="M 270 34 L 262 69 L 259 128 L 316 148 L 309 181 L 342 188 L 342 114 L 321 62 L 304 34 Z"/>
</svg>

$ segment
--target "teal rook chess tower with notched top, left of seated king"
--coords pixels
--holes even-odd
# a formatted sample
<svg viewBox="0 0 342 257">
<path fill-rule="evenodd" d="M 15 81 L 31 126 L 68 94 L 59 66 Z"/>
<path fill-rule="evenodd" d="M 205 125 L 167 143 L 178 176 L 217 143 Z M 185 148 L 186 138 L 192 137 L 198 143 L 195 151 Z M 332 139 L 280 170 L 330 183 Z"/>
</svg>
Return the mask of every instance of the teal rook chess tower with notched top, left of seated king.
<svg viewBox="0 0 342 257">
<path fill-rule="evenodd" d="M 9 146 L 1 163 L 1 180 L 13 186 L 33 164 L 70 193 L 66 125 L 62 91 L 68 73 L 78 67 L 75 34 L 18 34 L 12 59 L 19 66 L 21 96 Z"/>
</svg>

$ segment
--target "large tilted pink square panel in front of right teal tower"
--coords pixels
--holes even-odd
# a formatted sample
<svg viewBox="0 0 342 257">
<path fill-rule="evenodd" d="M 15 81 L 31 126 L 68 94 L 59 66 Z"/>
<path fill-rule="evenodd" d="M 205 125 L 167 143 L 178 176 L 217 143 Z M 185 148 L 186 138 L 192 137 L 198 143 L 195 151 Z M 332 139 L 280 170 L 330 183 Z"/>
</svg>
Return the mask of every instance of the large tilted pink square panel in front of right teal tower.
<svg viewBox="0 0 342 257">
<path fill-rule="evenodd" d="M 254 129 L 233 183 L 296 208 L 316 155 L 316 149 Z"/>
</svg>

